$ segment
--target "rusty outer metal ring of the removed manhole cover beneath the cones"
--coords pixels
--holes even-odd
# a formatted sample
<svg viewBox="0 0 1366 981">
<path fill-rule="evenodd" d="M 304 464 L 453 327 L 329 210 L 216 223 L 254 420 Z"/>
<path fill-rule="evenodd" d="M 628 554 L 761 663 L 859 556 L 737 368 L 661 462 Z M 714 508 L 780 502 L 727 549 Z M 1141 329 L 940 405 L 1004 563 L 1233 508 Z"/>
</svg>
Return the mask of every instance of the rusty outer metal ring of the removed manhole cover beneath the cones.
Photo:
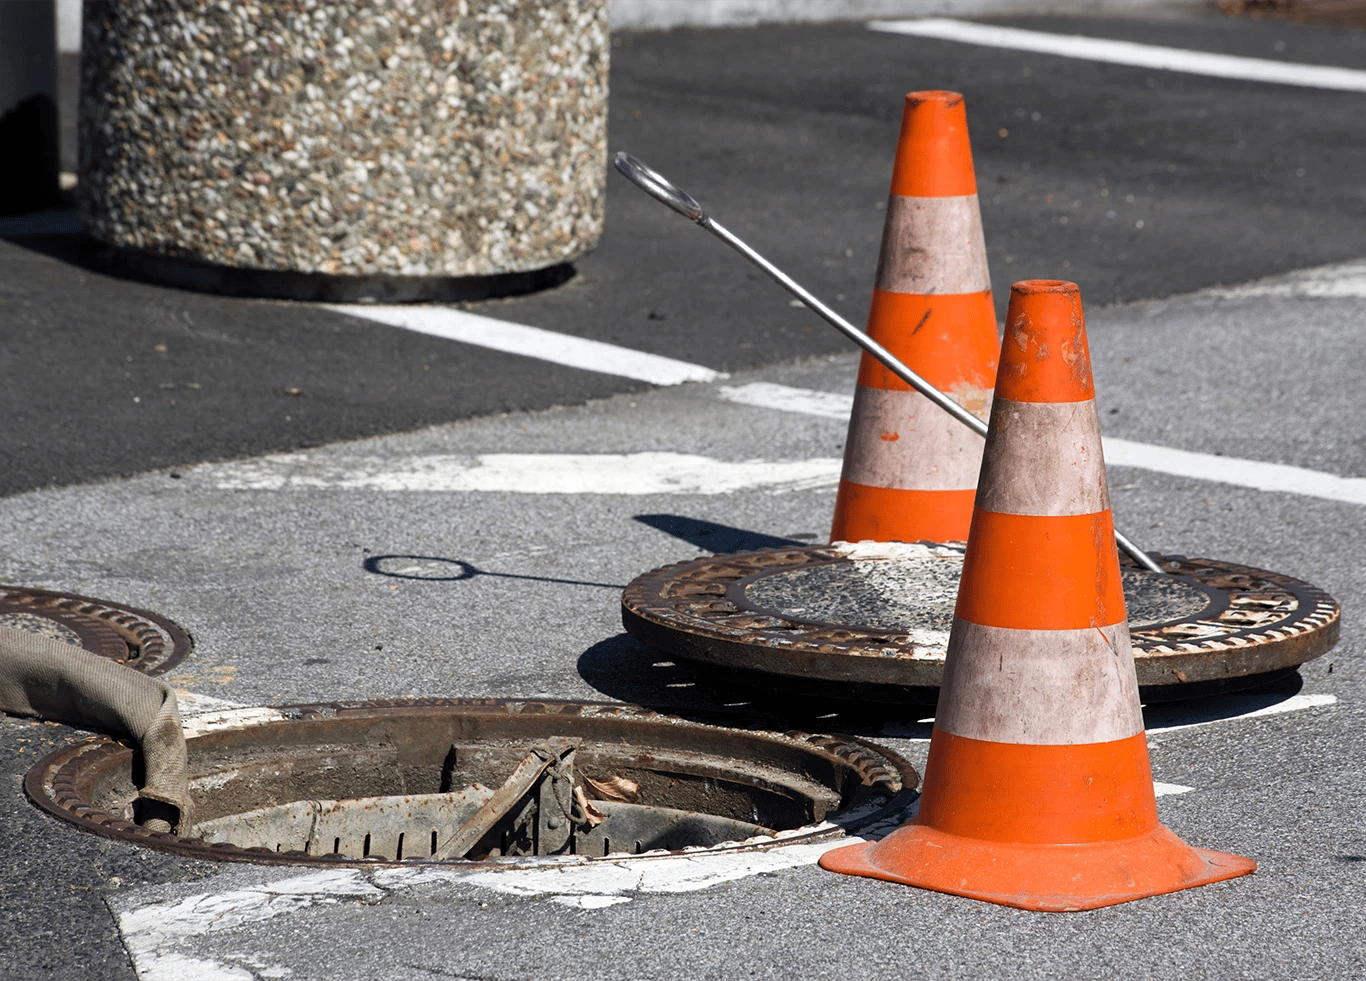
<svg viewBox="0 0 1366 981">
<path fill-rule="evenodd" d="M 1175 582 L 1198 590 L 1188 616 L 1130 623 L 1145 700 L 1236 690 L 1320 657 L 1337 642 L 1341 611 L 1324 590 L 1277 572 L 1213 559 L 1164 556 Z M 1131 562 L 1127 572 L 1139 570 Z M 750 600 L 768 577 L 822 567 L 852 570 L 828 545 L 761 549 L 665 566 L 631 582 L 622 622 L 642 644 L 690 661 L 753 672 L 777 685 L 826 682 L 884 701 L 933 701 L 944 650 L 914 631 L 840 623 Z M 832 575 L 843 574 L 831 570 Z M 917 604 L 908 596 L 907 604 Z M 949 607 L 951 612 L 951 607 Z M 1175 672 L 1182 672 L 1177 676 Z M 1247 679 L 1246 682 L 1243 679 Z"/>
</svg>

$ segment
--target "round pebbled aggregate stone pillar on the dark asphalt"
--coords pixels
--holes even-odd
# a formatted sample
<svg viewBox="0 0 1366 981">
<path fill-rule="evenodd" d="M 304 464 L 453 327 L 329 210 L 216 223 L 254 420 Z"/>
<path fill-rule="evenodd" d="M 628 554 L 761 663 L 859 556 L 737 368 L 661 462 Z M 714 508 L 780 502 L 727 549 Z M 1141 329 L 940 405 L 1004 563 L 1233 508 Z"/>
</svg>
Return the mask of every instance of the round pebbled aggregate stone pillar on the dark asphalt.
<svg viewBox="0 0 1366 981">
<path fill-rule="evenodd" d="M 443 299 L 602 231 L 607 0 L 86 0 L 79 187 L 133 275 Z"/>
</svg>

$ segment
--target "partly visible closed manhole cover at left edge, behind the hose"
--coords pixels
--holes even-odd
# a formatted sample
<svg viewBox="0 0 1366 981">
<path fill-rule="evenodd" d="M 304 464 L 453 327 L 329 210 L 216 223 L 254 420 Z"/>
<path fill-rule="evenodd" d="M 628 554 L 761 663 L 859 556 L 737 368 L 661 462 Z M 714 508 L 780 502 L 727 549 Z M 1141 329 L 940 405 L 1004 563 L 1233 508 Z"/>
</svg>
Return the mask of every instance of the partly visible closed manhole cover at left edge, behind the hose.
<svg viewBox="0 0 1366 981">
<path fill-rule="evenodd" d="M 145 675 L 164 675 L 193 646 L 183 627 L 157 613 L 23 586 L 0 586 L 0 626 L 75 644 Z"/>
</svg>

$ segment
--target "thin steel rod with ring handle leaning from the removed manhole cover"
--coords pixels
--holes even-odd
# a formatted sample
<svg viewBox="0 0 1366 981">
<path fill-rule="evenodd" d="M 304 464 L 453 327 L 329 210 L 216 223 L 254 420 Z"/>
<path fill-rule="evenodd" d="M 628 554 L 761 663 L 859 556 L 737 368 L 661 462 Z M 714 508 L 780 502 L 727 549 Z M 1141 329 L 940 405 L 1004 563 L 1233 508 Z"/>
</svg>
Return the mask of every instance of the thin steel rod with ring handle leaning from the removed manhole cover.
<svg viewBox="0 0 1366 981">
<path fill-rule="evenodd" d="M 952 398 L 941 392 L 938 388 L 932 385 L 929 381 L 922 378 L 919 374 L 907 368 L 900 358 L 888 351 L 885 347 L 878 344 L 863 331 L 854 327 L 851 322 L 844 320 L 835 310 L 828 307 L 820 299 L 817 299 L 810 291 L 802 287 L 800 283 L 794 280 L 785 272 L 779 269 L 776 265 L 769 262 L 766 258 L 759 255 L 754 249 L 751 249 L 744 240 L 742 240 L 735 232 L 728 230 L 720 221 L 713 219 L 706 210 L 697 202 L 697 199 L 687 191 L 678 187 L 673 182 L 665 178 L 658 171 L 645 165 L 630 153 L 619 152 L 616 154 L 616 169 L 622 172 L 632 184 L 639 187 L 642 191 L 649 194 L 656 201 L 660 201 L 679 215 L 699 225 L 706 228 L 709 232 L 716 235 L 719 239 L 731 246 L 735 251 L 740 253 L 750 262 L 762 269 L 768 276 L 777 283 L 780 287 L 787 290 L 790 294 L 796 296 L 802 303 L 810 307 L 817 316 L 820 316 L 825 322 L 833 327 L 836 331 L 843 333 L 846 337 L 852 340 L 855 344 L 862 347 L 865 351 L 872 354 L 881 362 L 887 370 L 895 374 L 897 378 L 904 381 L 907 385 L 914 388 L 917 392 L 923 395 L 926 399 L 933 402 L 936 406 L 943 409 L 945 413 L 952 415 L 955 419 L 962 422 L 964 426 L 971 429 L 978 436 L 986 436 L 986 424 L 979 418 L 973 415 L 970 411 L 963 409 Z M 1119 544 L 1124 552 L 1127 552 L 1134 562 L 1146 568 L 1149 572 L 1161 572 L 1165 575 L 1165 570 L 1158 566 L 1143 549 L 1138 548 L 1127 537 L 1115 531 L 1115 541 Z"/>
</svg>

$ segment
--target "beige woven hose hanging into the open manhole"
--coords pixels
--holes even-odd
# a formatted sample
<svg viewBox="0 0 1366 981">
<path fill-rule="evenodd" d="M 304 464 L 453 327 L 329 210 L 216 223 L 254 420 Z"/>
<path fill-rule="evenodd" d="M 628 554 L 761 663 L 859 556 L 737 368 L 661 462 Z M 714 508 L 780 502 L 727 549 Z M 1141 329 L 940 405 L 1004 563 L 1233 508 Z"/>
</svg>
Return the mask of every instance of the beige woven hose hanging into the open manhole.
<svg viewBox="0 0 1366 981">
<path fill-rule="evenodd" d="M 74 644 L 0 627 L 0 712 L 124 732 L 142 749 L 134 820 L 189 828 L 190 782 L 175 690 Z"/>
</svg>

